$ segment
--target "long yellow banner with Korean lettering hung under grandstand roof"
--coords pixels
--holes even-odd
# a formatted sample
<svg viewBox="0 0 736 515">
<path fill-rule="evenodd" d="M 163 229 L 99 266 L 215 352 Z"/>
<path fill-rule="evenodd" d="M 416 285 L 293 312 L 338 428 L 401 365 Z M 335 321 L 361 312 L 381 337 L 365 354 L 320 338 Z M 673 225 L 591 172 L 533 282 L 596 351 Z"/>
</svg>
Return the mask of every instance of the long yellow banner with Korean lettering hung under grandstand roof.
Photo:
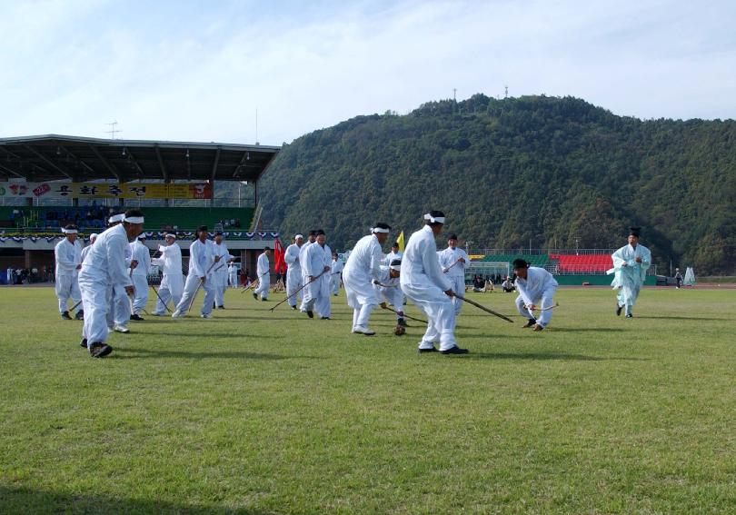
<svg viewBox="0 0 736 515">
<path fill-rule="evenodd" d="M 0 198 L 211 199 L 212 184 L 0 183 Z"/>
</svg>

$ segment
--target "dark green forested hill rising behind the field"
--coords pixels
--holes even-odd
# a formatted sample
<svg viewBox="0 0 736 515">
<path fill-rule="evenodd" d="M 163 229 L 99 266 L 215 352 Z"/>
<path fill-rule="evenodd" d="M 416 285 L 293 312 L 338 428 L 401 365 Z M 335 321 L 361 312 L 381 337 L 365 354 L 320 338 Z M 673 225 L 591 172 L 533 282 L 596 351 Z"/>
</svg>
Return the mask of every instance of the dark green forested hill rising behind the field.
<svg viewBox="0 0 736 515">
<path fill-rule="evenodd" d="M 627 227 L 662 269 L 734 273 L 736 122 L 642 121 L 582 100 L 482 94 L 358 116 L 284 145 L 259 184 L 264 226 L 350 248 L 429 209 L 472 247 L 616 248 Z M 396 231 L 396 234 L 398 231 Z"/>
</svg>

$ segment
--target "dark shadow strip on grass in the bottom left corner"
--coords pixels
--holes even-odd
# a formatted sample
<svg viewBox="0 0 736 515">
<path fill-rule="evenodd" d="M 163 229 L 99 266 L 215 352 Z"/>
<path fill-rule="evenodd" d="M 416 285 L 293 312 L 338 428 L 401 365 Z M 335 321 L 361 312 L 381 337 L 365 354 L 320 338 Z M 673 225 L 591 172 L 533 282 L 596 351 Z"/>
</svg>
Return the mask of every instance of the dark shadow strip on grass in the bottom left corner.
<svg viewBox="0 0 736 515">
<path fill-rule="evenodd" d="M 263 510 L 224 510 L 218 506 L 196 506 L 162 500 L 121 499 L 103 495 L 76 495 L 55 491 L 0 487 L 3 513 L 184 513 L 205 515 L 218 512 L 263 513 Z"/>
</svg>

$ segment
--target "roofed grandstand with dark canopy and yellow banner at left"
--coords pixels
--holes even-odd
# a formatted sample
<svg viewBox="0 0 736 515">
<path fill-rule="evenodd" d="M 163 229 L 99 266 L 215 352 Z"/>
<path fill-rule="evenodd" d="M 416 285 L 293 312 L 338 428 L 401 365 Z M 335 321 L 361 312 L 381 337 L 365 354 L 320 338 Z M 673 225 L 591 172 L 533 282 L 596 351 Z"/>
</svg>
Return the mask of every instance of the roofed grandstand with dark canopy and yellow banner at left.
<svg viewBox="0 0 736 515">
<path fill-rule="evenodd" d="M 111 213 L 145 214 L 146 245 L 175 232 L 184 253 L 199 225 L 222 231 L 242 266 L 255 270 L 275 228 L 263 228 L 258 180 L 280 147 L 98 139 L 48 134 L 0 138 L 0 270 L 50 278 L 61 227 L 85 242 Z M 2 276 L 4 274 L 0 274 Z"/>
</svg>

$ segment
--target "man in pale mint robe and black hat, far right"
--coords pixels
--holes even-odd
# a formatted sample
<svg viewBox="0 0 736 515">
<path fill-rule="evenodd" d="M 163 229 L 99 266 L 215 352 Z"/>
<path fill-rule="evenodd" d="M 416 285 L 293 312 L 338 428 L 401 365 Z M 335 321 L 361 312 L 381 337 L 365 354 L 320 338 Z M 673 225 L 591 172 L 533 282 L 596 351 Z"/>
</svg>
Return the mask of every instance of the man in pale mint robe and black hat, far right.
<svg viewBox="0 0 736 515">
<path fill-rule="evenodd" d="M 639 244 L 640 227 L 632 227 L 629 233 L 629 244 L 612 253 L 613 268 L 607 273 L 614 273 L 611 286 L 618 289 L 616 297 L 616 315 L 622 310 L 626 318 L 632 318 L 632 308 L 639 298 L 639 292 L 651 265 L 651 252 Z"/>
</svg>

